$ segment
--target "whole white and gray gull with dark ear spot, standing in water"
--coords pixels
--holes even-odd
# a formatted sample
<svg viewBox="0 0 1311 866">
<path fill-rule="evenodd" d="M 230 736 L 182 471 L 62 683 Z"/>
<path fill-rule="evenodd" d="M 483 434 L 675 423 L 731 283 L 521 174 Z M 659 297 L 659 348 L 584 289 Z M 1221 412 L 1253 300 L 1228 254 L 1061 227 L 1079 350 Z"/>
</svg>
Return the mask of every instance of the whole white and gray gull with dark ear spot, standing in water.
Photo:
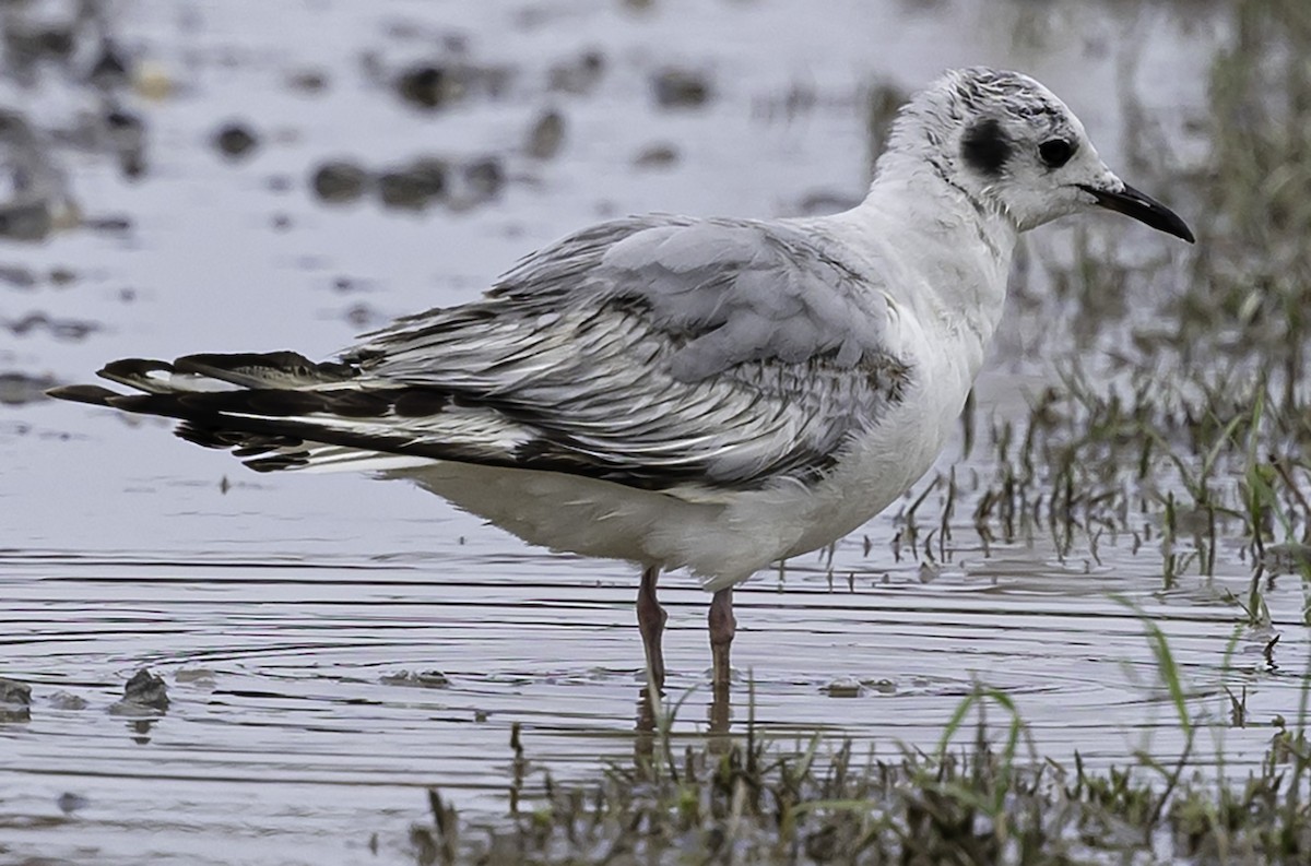
<svg viewBox="0 0 1311 866">
<path fill-rule="evenodd" d="M 520 259 L 480 299 L 399 318 L 334 359 L 125 359 L 55 397 L 177 418 L 261 472 L 404 478 L 519 538 L 686 569 L 726 690 L 733 587 L 843 537 L 933 464 L 987 354 L 1021 232 L 1095 207 L 1192 242 L 1017 72 L 944 73 L 901 110 L 874 179 L 831 216 L 616 219 Z"/>
</svg>

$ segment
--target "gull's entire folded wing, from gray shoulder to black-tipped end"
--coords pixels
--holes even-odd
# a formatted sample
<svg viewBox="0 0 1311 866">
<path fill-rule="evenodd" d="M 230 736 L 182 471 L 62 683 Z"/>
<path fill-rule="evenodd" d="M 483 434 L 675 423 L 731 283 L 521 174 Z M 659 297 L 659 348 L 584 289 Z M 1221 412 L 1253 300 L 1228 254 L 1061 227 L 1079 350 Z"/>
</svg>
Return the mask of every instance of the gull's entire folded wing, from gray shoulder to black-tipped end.
<svg viewBox="0 0 1311 866">
<path fill-rule="evenodd" d="M 60 396 L 182 418 L 257 469 L 461 460 L 707 499 L 821 477 L 876 424 L 914 372 L 886 324 L 878 286 L 787 224 L 632 217 L 337 362 L 115 362 L 147 393 Z"/>
</svg>

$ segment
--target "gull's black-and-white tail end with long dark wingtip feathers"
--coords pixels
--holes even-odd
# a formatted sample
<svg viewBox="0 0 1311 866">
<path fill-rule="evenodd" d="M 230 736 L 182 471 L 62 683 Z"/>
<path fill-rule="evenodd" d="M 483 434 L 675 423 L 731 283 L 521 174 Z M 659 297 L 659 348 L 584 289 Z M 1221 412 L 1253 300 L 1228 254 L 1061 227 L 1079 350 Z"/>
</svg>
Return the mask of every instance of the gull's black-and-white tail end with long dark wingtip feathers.
<svg viewBox="0 0 1311 866">
<path fill-rule="evenodd" d="M 138 393 L 67 385 L 49 394 L 177 418 L 180 438 L 229 449 L 258 472 L 503 462 L 514 439 L 511 424 L 496 413 L 456 406 L 447 390 L 372 379 L 351 364 L 316 363 L 290 351 L 128 358 L 98 375 Z"/>
</svg>

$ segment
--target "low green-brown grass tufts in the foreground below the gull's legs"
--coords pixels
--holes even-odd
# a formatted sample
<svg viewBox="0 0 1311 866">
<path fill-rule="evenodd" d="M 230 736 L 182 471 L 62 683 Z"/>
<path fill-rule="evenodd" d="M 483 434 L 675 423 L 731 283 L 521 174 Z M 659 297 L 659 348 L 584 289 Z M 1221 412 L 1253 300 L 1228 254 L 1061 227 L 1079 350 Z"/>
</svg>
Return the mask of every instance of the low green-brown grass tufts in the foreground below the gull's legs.
<svg viewBox="0 0 1311 866">
<path fill-rule="evenodd" d="M 536 795 L 522 794 L 539 770 L 515 726 L 507 816 L 465 821 L 430 789 L 430 819 L 410 828 L 410 850 L 421 866 L 1306 862 L 1308 688 L 1297 725 L 1270 726 L 1259 768 L 1228 776 L 1219 732 L 1207 752 L 1206 728 L 1189 714 L 1165 637 L 1145 628 L 1184 732 L 1173 757 L 1138 751 L 1105 770 L 1078 752 L 1068 762 L 1042 757 L 1011 697 L 985 685 L 960 702 L 932 752 L 857 755 L 851 739 L 818 734 L 789 747 L 754 718 L 741 735 L 687 743 L 671 735 L 678 706 L 666 705 L 652 749 L 632 765 L 577 785 L 540 770 Z M 1231 723 L 1245 723 L 1240 700 L 1228 698 Z"/>
</svg>

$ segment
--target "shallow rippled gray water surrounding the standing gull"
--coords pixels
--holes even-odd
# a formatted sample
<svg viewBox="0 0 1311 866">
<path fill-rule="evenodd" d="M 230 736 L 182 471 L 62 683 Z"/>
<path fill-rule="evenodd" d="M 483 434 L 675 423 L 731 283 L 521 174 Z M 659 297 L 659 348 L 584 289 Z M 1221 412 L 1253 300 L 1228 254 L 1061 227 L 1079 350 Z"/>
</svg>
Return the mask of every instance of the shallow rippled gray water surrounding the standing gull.
<svg viewBox="0 0 1311 866">
<path fill-rule="evenodd" d="M 126 179 L 104 152 L 50 151 L 88 217 L 128 228 L 0 248 L 0 263 L 33 275 L 0 283 L 0 373 L 81 381 L 111 358 L 199 350 L 328 355 L 391 314 L 472 297 L 517 255 L 600 216 L 794 214 L 812 199 L 851 199 L 867 176 L 864 88 L 910 89 L 944 66 L 1032 71 L 1117 165 L 1117 46 L 1131 45 L 1135 89 L 1163 109 L 1159 123 L 1186 156 L 1186 121 L 1224 33 L 1206 13 L 1125 20 L 1072 3 L 1049 17 L 1028 4 L 825 8 L 817 20 L 802 17 L 810 4 L 781 0 L 657 0 L 645 12 L 123 4 L 119 42 L 173 83 L 163 101 L 117 97 L 147 122 L 148 169 Z M 502 94 L 425 113 L 371 72 L 439 55 L 434 46 L 455 37 L 469 62 L 509 69 Z M 589 50 L 604 56 L 594 88 L 552 90 L 551 67 Z M 653 106 L 650 75 L 669 64 L 709 76 L 705 106 Z M 307 71 L 324 76 L 323 90 L 287 83 Z M 43 128 L 97 105 L 72 76 L 41 75 L 4 93 Z M 564 147 L 538 160 L 520 143 L 548 106 L 565 118 Z M 260 138 L 239 162 L 211 144 L 232 119 Z M 679 152 L 673 166 L 632 164 L 659 143 Z M 382 168 L 429 153 L 456 164 L 497 155 L 507 182 L 490 200 L 423 214 L 325 207 L 308 190 L 324 159 Z M 1068 232 L 1045 231 L 1055 244 Z M 72 279 L 51 279 L 56 270 Z M 45 325 L 13 326 L 37 313 Z M 1019 415 L 1023 392 L 1041 381 L 1032 373 L 1045 372 L 1045 355 L 1024 351 L 1025 329 L 1041 328 L 1017 316 L 981 386 L 1000 417 Z M 467 814 L 507 808 L 514 723 L 534 766 L 556 778 L 644 748 L 628 566 L 527 549 L 404 485 L 256 476 L 178 443 L 164 423 L 12 402 L 0 406 L 0 675 L 30 684 L 33 705 L 30 721 L 0 723 L 4 858 L 404 861 L 423 787 L 440 786 Z M 958 459 L 953 447 L 940 465 Z M 958 474 L 987 469 L 975 452 Z M 940 500 L 926 500 L 935 515 Z M 802 557 L 742 587 L 729 730 L 742 730 L 750 680 L 768 731 L 850 735 L 882 753 L 898 742 L 927 748 L 985 683 L 1015 697 L 1044 755 L 1105 765 L 1139 748 L 1177 753 L 1145 625 L 1113 596 L 1169 637 L 1192 709 L 1217 725 L 1203 757 L 1219 739 L 1243 772 L 1269 721 L 1297 715 L 1311 647 L 1295 580 L 1266 596 L 1281 634 L 1272 666 L 1262 649 L 1273 631 L 1238 630 L 1242 613 L 1224 599 L 1252 574 L 1238 550 L 1221 552 L 1214 578 L 1167 582 L 1156 542 L 1134 553 L 1125 535 L 1062 555 L 1040 535 L 985 550 L 970 510 L 957 507 L 945 563 L 898 559 L 898 524 L 884 516 L 831 561 Z M 1141 523 L 1150 531 L 1150 518 Z M 662 600 L 669 694 L 688 696 L 675 732 L 700 736 L 724 721 L 707 689 L 708 597 L 674 574 Z M 164 676 L 170 706 L 153 718 L 111 711 L 140 667 Z M 402 679 L 425 671 L 446 683 Z M 861 685 L 836 697 L 835 681 Z M 1226 687 L 1248 689 L 1251 727 L 1226 727 Z"/>
</svg>

